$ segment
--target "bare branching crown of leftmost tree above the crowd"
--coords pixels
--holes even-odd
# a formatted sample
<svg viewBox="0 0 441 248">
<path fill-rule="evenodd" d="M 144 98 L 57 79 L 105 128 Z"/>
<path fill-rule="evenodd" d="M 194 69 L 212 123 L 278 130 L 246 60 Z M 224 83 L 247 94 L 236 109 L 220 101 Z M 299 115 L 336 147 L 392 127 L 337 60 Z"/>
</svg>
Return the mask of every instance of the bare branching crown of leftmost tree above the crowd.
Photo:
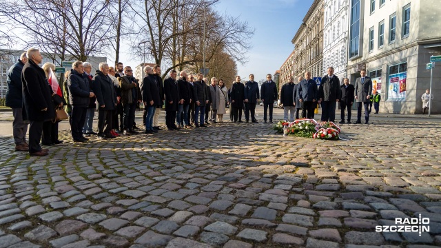
<svg viewBox="0 0 441 248">
<path fill-rule="evenodd" d="M 85 61 L 102 54 L 112 29 L 108 0 L 5 0 L 0 13 L 26 34 L 27 46 Z"/>
</svg>

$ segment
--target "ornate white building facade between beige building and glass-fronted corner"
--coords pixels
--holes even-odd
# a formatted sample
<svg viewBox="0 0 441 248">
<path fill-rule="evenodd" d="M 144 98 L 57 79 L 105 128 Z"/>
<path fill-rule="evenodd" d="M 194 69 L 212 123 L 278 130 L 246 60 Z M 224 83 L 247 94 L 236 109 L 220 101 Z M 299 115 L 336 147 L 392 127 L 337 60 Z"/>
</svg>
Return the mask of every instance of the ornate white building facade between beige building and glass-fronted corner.
<svg viewBox="0 0 441 248">
<path fill-rule="evenodd" d="M 349 0 L 324 0 L 322 75 L 332 66 L 340 81 L 347 76 Z"/>
</svg>

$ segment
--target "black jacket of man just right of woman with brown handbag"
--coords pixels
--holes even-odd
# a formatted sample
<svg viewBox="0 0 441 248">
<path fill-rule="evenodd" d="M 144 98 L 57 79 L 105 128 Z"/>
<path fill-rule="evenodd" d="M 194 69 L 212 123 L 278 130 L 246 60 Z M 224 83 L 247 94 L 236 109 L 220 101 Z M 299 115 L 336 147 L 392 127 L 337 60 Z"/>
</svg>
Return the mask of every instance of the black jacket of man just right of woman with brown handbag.
<svg viewBox="0 0 441 248">
<path fill-rule="evenodd" d="M 69 103 L 75 107 L 89 107 L 90 85 L 85 74 L 70 70 L 68 79 Z"/>
</svg>

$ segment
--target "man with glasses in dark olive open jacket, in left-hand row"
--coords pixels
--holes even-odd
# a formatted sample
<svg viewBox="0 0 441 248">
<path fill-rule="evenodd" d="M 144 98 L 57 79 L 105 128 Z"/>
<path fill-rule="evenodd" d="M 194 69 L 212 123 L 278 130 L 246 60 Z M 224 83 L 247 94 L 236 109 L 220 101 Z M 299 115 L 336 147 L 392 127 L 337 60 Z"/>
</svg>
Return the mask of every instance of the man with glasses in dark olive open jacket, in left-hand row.
<svg viewBox="0 0 441 248">
<path fill-rule="evenodd" d="M 124 68 L 124 76 L 119 77 L 121 85 L 121 103 L 124 110 L 124 135 L 138 134 L 132 129 L 135 121 L 136 102 L 141 103 L 142 95 L 139 84 L 133 77 L 133 70 L 130 66 Z"/>
</svg>

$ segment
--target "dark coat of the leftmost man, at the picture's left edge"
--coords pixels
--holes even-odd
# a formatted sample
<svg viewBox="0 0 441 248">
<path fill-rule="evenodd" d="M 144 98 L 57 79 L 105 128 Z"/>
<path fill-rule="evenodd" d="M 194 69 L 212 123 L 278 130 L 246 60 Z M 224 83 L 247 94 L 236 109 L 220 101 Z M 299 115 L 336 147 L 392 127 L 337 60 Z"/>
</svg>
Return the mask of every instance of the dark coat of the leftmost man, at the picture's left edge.
<svg viewBox="0 0 441 248">
<path fill-rule="evenodd" d="M 19 60 L 8 70 L 8 90 L 6 90 L 6 106 L 23 107 L 23 85 L 21 85 L 21 71 L 25 64 Z"/>
</svg>

